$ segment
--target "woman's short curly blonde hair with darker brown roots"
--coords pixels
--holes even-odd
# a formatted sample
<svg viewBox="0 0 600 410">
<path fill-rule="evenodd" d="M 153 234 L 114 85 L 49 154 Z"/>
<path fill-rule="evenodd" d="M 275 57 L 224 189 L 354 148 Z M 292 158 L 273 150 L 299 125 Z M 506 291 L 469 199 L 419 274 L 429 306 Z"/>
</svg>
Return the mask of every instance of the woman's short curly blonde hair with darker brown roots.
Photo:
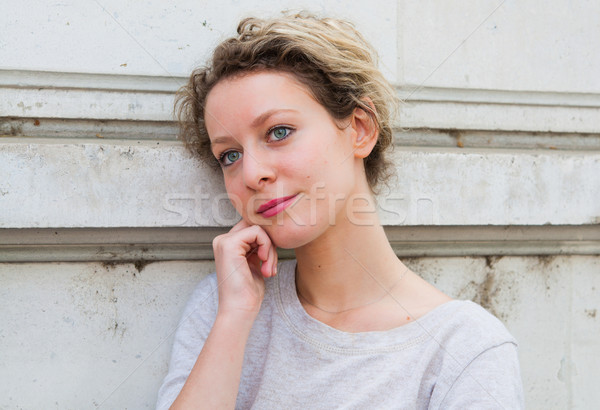
<svg viewBox="0 0 600 410">
<path fill-rule="evenodd" d="M 260 70 L 282 71 L 304 84 L 334 119 L 347 119 L 357 107 L 374 119 L 379 136 L 363 160 L 366 177 L 373 192 L 387 182 L 393 172 L 384 151 L 392 146 L 397 98 L 377 68 L 375 50 L 351 23 L 300 13 L 246 18 L 237 33 L 221 42 L 208 64 L 195 69 L 177 92 L 180 136 L 192 153 L 220 166 L 211 153 L 205 126 L 205 116 L 210 115 L 205 111 L 206 99 L 219 81 Z"/>
</svg>

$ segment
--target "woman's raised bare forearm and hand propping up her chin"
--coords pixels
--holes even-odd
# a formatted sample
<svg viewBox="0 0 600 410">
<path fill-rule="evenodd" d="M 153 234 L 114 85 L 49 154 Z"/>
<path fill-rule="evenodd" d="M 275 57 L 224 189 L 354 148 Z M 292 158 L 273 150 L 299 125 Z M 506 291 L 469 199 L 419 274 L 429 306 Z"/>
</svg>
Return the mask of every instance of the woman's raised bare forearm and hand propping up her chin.
<svg viewBox="0 0 600 410">
<path fill-rule="evenodd" d="M 172 409 L 234 408 L 246 342 L 265 294 L 264 278 L 276 273 L 277 252 L 271 238 L 243 219 L 213 240 L 213 251 L 217 317 Z"/>
</svg>

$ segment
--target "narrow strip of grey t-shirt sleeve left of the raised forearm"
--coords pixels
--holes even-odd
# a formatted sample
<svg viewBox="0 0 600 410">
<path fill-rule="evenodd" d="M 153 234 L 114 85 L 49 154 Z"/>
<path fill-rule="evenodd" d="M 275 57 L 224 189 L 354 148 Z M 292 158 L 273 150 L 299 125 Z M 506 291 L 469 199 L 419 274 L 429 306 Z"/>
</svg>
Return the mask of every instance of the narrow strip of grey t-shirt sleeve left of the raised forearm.
<svg viewBox="0 0 600 410">
<path fill-rule="evenodd" d="M 183 311 L 175 333 L 169 371 L 158 391 L 157 409 L 168 409 L 179 395 L 212 329 L 217 304 L 216 275 L 212 274 L 198 284 Z"/>
</svg>

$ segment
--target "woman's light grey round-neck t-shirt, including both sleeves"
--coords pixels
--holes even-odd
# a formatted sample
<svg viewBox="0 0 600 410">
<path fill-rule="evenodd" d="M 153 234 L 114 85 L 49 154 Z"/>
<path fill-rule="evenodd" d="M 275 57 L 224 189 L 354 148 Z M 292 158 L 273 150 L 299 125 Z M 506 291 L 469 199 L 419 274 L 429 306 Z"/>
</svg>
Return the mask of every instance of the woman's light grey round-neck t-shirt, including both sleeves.
<svg viewBox="0 0 600 410">
<path fill-rule="evenodd" d="M 452 300 L 395 329 L 347 333 L 306 313 L 296 295 L 295 265 L 281 262 L 278 275 L 266 280 L 236 408 L 523 408 L 516 341 L 481 306 Z M 187 304 L 158 409 L 168 408 L 183 387 L 217 302 L 212 274 Z"/>
</svg>

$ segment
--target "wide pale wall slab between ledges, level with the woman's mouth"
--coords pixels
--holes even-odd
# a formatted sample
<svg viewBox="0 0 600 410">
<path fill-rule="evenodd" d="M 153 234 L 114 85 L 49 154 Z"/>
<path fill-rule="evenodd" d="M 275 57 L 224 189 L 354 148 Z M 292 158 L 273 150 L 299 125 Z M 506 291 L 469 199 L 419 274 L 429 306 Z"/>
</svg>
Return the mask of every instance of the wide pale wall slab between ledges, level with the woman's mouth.
<svg viewBox="0 0 600 410">
<path fill-rule="evenodd" d="M 177 142 L 14 139 L 1 147 L 0 228 L 239 220 L 220 171 Z M 600 152 L 396 147 L 393 157 L 397 179 L 378 197 L 384 225 L 600 222 Z"/>
</svg>

